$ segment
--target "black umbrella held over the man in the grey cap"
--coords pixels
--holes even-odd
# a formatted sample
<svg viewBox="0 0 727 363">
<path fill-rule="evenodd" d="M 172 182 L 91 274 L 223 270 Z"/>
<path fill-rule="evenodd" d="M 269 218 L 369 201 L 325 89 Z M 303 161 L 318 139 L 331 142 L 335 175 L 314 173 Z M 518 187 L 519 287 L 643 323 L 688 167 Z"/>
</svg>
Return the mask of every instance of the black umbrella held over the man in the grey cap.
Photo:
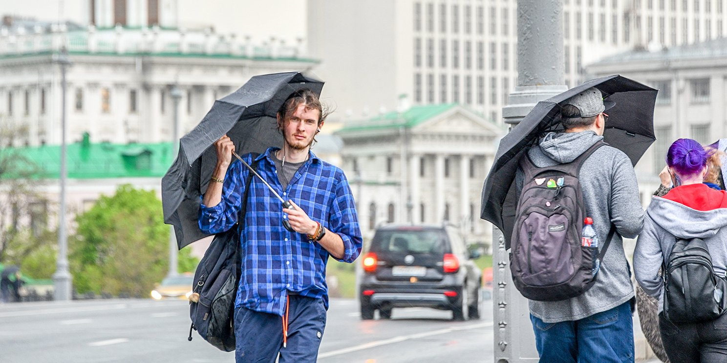
<svg viewBox="0 0 727 363">
<path fill-rule="evenodd" d="M 547 132 L 563 129 L 561 102 L 591 87 L 601 90 L 604 99 L 616 102 L 607 111 L 609 117 L 603 140 L 625 152 L 633 165 L 656 139 L 654 103 L 657 90 L 629 78 L 618 75 L 596 78 L 538 102 L 523 121 L 500 140 L 482 189 L 481 218 L 502 230 L 507 245 L 513 232 L 518 198 L 515 171 L 521 156 Z"/>
</svg>

